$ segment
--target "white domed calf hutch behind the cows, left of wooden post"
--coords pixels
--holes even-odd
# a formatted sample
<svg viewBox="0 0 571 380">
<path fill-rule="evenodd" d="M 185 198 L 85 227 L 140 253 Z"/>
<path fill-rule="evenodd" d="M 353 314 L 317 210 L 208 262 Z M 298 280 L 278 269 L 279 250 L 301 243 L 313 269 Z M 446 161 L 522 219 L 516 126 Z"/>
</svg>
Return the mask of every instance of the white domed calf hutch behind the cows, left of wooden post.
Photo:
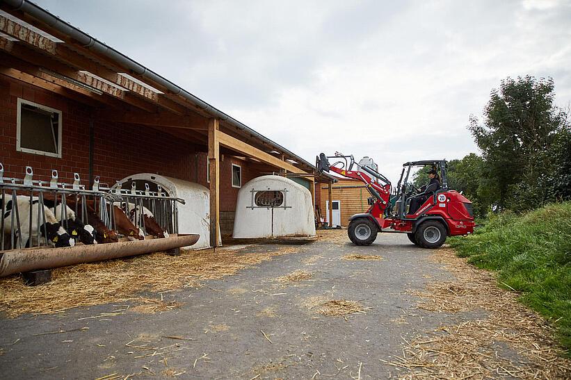
<svg viewBox="0 0 571 380">
<path fill-rule="evenodd" d="M 172 220 L 177 223 L 178 233 L 198 233 L 200 238 L 193 249 L 211 247 L 210 244 L 210 193 L 198 183 L 183 181 L 158 174 L 140 173 L 128 176 L 113 188 L 145 190 L 145 183 L 150 191 L 159 189 L 167 197 L 184 199 L 184 204 L 177 206 L 177 215 Z M 134 184 L 134 185 L 133 185 Z M 220 236 L 220 234 L 218 234 Z M 218 245 L 222 242 L 218 241 Z"/>
</svg>

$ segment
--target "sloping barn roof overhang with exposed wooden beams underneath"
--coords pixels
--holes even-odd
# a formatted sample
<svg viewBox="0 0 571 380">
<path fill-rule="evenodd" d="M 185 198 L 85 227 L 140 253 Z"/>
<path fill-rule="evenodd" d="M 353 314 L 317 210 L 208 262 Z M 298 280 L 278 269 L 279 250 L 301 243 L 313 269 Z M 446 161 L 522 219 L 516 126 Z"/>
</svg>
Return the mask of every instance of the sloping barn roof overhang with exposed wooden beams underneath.
<svg viewBox="0 0 571 380">
<path fill-rule="evenodd" d="M 0 57 L 8 67 L 22 70 L 9 72 L 11 76 L 65 85 L 86 102 L 110 106 L 97 113 L 99 119 L 166 127 L 203 144 L 208 142 L 207 123 L 216 118 L 232 138 L 300 172 L 315 172 L 312 163 L 289 149 L 31 1 L 2 0 L 0 9 Z M 117 109 L 118 102 L 129 108 Z"/>
</svg>

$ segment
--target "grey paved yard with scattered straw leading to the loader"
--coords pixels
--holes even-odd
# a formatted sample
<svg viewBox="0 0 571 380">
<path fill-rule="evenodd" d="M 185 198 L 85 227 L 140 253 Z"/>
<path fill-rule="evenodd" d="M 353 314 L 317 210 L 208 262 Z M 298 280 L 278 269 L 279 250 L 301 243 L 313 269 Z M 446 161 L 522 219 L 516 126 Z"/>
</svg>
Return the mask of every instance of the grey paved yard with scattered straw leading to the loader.
<svg viewBox="0 0 571 380">
<path fill-rule="evenodd" d="M 419 298 L 412 293 L 452 274 L 428 260 L 432 251 L 406 236 L 380 234 L 373 245 L 356 247 L 346 231 L 324 234 L 296 245 L 295 253 L 202 281 L 200 288 L 143 295 L 162 297 L 167 308 L 103 304 L 2 319 L 2 377 L 398 377 L 405 370 L 386 362 L 403 355 L 405 342 L 443 325 L 485 317 L 478 308 L 460 313 L 417 308 Z M 243 249 L 256 254 L 276 246 Z M 344 258 L 349 255 L 380 259 Z M 352 301 L 359 312 L 328 315 L 326 302 L 332 300 Z M 518 359 L 507 345 L 498 349 Z"/>
</svg>

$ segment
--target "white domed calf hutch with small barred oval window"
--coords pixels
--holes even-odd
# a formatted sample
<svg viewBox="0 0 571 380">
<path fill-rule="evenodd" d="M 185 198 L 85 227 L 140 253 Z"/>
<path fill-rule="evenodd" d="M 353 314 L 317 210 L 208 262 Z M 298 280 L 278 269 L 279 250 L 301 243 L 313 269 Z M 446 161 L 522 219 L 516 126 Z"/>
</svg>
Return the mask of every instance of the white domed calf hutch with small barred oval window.
<svg viewBox="0 0 571 380">
<path fill-rule="evenodd" d="M 315 236 L 312 195 L 282 176 L 259 176 L 238 192 L 232 238 Z"/>
</svg>

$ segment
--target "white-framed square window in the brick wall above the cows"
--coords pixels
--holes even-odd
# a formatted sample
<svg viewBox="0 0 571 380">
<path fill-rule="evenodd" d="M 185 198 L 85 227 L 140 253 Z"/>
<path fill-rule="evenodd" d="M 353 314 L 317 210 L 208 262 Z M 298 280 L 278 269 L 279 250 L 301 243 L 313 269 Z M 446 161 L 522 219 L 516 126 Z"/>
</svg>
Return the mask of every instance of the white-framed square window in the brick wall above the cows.
<svg viewBox="0 0 571 380">
<path fill-rule="evenodd" d="M 61 158 L 61 110 L 18 99 L 16 150 Z"/>
</svg>

